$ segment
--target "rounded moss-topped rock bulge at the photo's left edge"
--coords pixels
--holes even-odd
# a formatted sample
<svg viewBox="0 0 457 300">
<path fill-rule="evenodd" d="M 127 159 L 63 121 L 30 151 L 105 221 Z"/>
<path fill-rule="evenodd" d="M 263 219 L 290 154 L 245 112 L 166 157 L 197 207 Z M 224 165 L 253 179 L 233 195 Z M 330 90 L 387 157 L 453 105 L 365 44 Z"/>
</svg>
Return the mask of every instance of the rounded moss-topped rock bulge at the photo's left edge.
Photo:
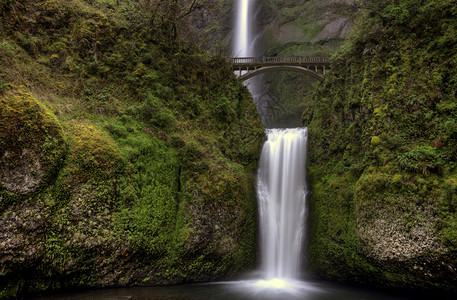
<svg viewBox="0 0 457 300">
<path fill-rule="evenodd" d="M 29 194 L 49 179 L 65 153 L 55 116 L 25 87 L 0 96 L 0 185 Z"/>
</svg>

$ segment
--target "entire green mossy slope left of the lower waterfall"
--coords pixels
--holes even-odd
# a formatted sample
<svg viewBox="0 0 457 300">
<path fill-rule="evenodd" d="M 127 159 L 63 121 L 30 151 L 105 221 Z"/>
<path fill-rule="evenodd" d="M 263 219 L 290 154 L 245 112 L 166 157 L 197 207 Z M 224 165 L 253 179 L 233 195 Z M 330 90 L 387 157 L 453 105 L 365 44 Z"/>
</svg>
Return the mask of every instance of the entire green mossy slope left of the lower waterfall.
<svg viewBox="0 0 457 300">
<path fill-rule="evenodd" d="M 252 98 L 152 11 L 0 1 L 0 298 L 254 264 Z M 9 184 L 14 168 L 29 190 Z"/>
</svg>

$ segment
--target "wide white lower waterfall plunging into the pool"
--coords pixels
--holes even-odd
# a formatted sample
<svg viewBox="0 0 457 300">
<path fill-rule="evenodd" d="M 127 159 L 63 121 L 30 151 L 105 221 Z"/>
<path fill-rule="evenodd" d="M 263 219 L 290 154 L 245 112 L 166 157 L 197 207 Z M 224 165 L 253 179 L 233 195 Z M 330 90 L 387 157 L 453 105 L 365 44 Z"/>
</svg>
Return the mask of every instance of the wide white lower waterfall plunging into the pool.
<svg viewBox="0 0 457 300">
<path fill-rule="evenodd" d="M 262 270 L 297 279 L 306 214 L 306 128 L 267 129 L 258 171 Z"/>
</svg>

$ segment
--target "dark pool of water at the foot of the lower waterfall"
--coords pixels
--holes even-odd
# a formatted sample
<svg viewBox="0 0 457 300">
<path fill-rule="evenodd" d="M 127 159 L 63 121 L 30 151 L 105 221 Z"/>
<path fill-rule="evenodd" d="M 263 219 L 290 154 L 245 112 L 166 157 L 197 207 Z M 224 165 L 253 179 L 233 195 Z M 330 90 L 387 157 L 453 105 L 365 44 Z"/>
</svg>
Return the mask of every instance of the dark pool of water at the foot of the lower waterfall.
<svg viewBox="0 0 457 300">
<path fill-rule="evenodd" d="M 168 287 L 137 287 L 73 291 L 33 297 L 43 300 L 407 300 L 417 299 L 386 291 L 373 291 L 324 282 L 262 282 L 255 280 Z"/>
</svg>

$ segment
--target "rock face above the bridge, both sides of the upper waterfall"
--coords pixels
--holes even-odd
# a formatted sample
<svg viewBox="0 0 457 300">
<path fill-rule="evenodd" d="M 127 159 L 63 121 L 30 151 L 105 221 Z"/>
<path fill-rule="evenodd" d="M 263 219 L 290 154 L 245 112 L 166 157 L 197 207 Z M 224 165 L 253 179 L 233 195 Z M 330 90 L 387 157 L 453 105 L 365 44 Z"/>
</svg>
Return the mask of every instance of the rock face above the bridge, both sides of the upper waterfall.
<svg viewBox="0 0 457 300">
<path fill-rule="evenodd" d="M 256 51 L 265 54 L 270 48 L 287 43 L 319 43 L 323 49 L 335 49 L 334 42 L 344 39 L 351 27 L 351 15 L 344 6 L 351 0 L 256 0 L 254 24 L 257 32 Z M 208 1 L 186 20 L 185 27 L 191 28 L 188 37 L 200 40 L 209 50 L 224 46 L 231 55 L 238 1 Z M 189 33 L 189 32 L 187 32 Z M 186 34 L 186 30 L 184 30 Z M 326 45 L 332 41 L 331 45 Z M 287 48 L 287 47 L 286 47 Z M 283 48 L 285 49 L 285 48 Z M 296 55 L 307 55 L 303 50 Z"/>
</svg>

